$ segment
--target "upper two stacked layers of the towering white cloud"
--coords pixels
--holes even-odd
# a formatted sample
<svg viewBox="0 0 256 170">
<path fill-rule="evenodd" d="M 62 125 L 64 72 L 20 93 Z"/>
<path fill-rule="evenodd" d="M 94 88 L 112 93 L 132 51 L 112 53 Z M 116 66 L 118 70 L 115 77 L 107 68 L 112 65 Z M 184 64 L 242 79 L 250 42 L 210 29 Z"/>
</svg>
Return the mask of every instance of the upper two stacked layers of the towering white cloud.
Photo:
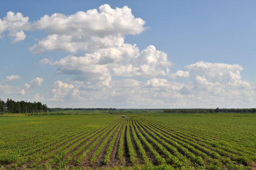
<svg viewBox="0 0 256 170">
<path fill-rule="evenodd" d="M 127 6 L 112 9 L 108 4 L 86 12 L 65 16 L 45 15 L 34 22 L 37 29 L 49 34 L 30 48 L 34 53 L 60 50 L 76 52 L 119 47 L 123 34 L 139 34 L 146 28 L 145 21 L 135 18 Z"/>
</svg>

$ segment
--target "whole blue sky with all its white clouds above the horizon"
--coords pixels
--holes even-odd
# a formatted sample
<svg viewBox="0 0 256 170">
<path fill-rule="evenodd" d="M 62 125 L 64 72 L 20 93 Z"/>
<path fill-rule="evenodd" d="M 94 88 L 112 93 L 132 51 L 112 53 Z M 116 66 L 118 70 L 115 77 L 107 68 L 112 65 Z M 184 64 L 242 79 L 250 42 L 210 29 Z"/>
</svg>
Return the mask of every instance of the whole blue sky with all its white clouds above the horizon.
<svg viewBox="0 0 256 170">
<path fill-rule="evenodd" d="M 0 99 L 256 108 L 255 0 L 5 0 Z"/>
</svg>

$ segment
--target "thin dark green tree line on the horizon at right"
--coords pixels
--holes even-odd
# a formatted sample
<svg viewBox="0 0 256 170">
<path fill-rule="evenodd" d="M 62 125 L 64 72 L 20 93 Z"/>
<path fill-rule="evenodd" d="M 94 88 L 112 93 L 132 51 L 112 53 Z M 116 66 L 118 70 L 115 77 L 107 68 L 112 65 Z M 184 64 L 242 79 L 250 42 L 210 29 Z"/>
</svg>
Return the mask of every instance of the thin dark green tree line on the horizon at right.
<svg viewBox="0 0 256 170">
<path fill-rule="evenodd" d="M 256 108 L 251 109 L 165 109 L 164 113 L 255 113 Z"/>
</svg>

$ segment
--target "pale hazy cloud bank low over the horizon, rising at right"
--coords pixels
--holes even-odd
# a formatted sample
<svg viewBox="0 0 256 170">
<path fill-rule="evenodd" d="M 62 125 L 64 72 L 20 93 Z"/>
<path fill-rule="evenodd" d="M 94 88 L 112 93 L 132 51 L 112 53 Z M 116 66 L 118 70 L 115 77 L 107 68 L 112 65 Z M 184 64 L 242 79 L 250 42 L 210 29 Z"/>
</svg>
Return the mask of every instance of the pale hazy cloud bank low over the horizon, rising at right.
<svg viewBox="0 0 256 170">
<path fill-rule="evenodd" d="M 185 84 L 155 77 L 146 81 L 114 79 L 108 86 L 73 82 L 74 88 L 68 95 L 76 90 L 77 96 L 63 100 L 74 101 L 79 97 L 86 103 L 97 101 L 105 106 L 125 108 L 252 107 L 255 87 L 241 79 L 241 66 L 201 61 L 186 68 L 194 82 Z"/>
</svg>

